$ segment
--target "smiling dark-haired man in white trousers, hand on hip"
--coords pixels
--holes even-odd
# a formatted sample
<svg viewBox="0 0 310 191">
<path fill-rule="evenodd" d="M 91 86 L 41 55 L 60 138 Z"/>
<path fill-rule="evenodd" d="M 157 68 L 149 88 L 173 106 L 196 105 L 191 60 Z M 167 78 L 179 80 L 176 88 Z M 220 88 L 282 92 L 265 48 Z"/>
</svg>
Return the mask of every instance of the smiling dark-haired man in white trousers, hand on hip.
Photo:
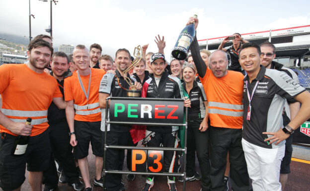
<svg viewBox="0 0 310 191">
<path fill-rule="evenodd" d="M 254 191 L 281 191 L 280 164 L 285 139 L 310 118 L 310 93 L 285 72 L 260 65 L 264 57 L 255 43 L 239 51 L 244 78 L 242 147 Z M 285 99 L 302 103 L 292 121 L 283 127 Z M 231 154 L 231 152 L 230 152 Z"/>
</svg>

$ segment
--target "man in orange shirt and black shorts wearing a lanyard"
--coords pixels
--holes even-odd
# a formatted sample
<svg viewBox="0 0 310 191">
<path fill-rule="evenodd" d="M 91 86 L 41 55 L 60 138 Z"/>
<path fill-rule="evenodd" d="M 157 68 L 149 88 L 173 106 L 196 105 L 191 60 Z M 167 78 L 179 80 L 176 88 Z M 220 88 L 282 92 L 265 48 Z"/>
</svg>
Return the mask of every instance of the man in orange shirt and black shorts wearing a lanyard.
<svg viewBox="0 0 310 191">
<path fill-rule="evenodd" d="M 74 156 L 78 159 L 85 191 L 92 191 L 89 182 L 88 148 L 96 156 L 95 186 L 103 186 L 101 172 L 103 166 L 101 110 L 99 108 L 99 86 L 103 69 L 89 67 L 89 52 L 84 45 L 78 45 L 73 51 L 73 60 L 78 70 L 65 79 L 66 116 L 70 127 L 70 144 L 74 146 Z"/>
</svg>

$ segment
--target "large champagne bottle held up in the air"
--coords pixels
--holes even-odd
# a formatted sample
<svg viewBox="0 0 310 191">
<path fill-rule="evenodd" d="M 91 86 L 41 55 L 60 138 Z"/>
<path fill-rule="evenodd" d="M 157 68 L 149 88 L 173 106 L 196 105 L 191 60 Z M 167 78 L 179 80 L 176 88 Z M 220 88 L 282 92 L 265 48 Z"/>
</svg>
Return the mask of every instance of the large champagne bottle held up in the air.
<svg viewBox="0 0 310 191">
<path fill-rule="evenodd" d="M 197 18 L 197 15 L 194 15 Z M 172 49 L 172 57 L 177 60 L 185 60 L 188 54 L 190 45 L 195 38 L 195 23 L 187 25 L 180 33 L 174 48 Z"/>
</svg>

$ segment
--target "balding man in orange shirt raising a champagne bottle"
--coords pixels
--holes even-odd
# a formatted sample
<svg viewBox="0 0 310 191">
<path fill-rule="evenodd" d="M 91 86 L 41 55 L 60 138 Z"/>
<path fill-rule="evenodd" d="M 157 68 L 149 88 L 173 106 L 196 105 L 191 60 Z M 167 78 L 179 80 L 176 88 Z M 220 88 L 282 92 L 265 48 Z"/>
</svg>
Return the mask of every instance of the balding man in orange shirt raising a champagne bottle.
<svg viewBox="0 0 310 191">
<path fill-rule="evenodd" d="M 191 17 L 187 25 L 192 22 L 195 22 L 196 29 L 198 19 Z M 227 70 L 228 60 L 222 50 L 216 50 L 210 55 L 210 69 L 207 68 L 200 56 L 196 36 L 191 53 L 208 99 L 208 115 L 211 124 L 211 190 L 224 191 L 224 173 L 229 151 L 232 188 L 237 191 L 248 191 L 248 173 L 241 144 L 243 75 L 237 71 Z"/>
</svg>

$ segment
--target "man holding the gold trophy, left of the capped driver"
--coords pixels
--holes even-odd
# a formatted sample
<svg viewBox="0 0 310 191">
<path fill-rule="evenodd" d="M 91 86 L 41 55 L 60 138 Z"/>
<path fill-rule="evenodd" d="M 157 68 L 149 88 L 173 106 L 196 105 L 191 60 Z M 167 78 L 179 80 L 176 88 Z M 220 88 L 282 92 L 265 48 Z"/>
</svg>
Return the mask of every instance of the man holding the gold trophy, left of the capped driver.
<svg viewBox="0 0 310 191">
<path fill-rule="evenodd" d="M 101 130 L 104 131 L 106 98 L 111 97 L 127 97 L 129 84 L 124 79 L 123 71 L 125 71 L 131 63 L 131 56 L 127 49 L 118 49 L 115 55 L 115 63 L 117 70 L 115 75 L 112 73 L 105 74 L 100 82 L 99 88 L 99 105 L 102 108 Z M 137 85 L 137 89 L 142 86 L 132 79 Z M 124 89 L 123 89 L 124 88 Z M 127 145 L 129 130 L 131 125 L 111 124 L 107 129 L 107 145 Z M 125 152 L 122 149 L 107 149 L 106 151 L 106 169 L 122 170 Z M 105 188 L 107 191 L 124 191 L 121 174 L 107 174 Z"/>
</svg>

